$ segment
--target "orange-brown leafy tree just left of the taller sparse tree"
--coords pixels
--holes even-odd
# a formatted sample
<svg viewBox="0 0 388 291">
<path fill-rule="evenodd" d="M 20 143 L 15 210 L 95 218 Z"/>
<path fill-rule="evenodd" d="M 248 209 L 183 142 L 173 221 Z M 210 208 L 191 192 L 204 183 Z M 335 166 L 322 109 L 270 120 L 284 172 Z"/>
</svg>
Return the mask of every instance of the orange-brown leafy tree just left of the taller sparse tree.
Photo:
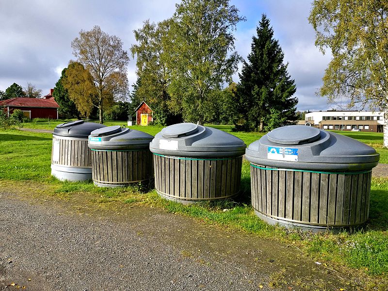
<svg viewBox="0 0 388 291">
<path fill-rule="evenodd" d="M 99 103 L 97 88 L 90 72 L 78 62 L 70 63 L 65 70 L 62 84 L 77 110 L 81 115 L 89 118 L 93 107 Z M 107 103 L 105 101 L 103 104 L 106 106 Z"/>
</svg>

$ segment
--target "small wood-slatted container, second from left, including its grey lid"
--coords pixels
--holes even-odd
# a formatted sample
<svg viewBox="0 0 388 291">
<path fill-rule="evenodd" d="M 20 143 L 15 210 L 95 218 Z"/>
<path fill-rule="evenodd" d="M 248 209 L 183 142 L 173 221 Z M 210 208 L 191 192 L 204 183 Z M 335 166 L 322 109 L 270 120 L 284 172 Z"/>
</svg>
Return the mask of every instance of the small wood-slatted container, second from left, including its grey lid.
<svg viewBox="0 0 388 291">
<path fill-rule="evenodd" d="M 154 137 L 120 126 L 96 129 L 89 135 L 92 177 L 100 187 L 124 187 L 152 178 L 149 143 Z"/>
</svg>

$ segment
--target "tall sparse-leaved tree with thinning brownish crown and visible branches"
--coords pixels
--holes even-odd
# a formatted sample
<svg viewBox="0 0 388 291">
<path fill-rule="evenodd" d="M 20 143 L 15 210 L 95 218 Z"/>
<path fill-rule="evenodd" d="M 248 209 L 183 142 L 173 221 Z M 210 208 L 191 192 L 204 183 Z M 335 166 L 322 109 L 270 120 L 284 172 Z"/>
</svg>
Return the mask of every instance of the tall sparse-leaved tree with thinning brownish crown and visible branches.
<svg viewBox="0 0 388 291">
<path fill-rule="evenodd" d="M 123 42 L 119 37 L 102 32 L 99 26 L 95 26 L 91 31 L 81 30 L 71 47 L 77 61 L 92 76 L 97 94 L 92 94 L 87 103 L 98 108 L 99 120 L 103 123 L 104 110 L 113 103 L 114 98 L 123 98 L 128 91 L 129 57 L 122 49 Z M 79 108 L 78 99 L 74 99 L 74 102 Z"/>
</svg>

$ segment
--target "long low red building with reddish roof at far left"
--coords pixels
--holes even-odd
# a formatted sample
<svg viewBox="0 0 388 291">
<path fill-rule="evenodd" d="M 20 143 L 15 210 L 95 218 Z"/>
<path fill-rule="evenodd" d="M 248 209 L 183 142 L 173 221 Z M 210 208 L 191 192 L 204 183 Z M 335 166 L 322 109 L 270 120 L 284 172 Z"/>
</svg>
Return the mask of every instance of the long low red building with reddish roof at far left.
<svg viewBox="0 0 388 291">
<path fill-rule="evenodd" d="M 46 99 L 16 97 L 0 101 L 6 113 L 11 114 L 15 109 L 20 109 L 28 118 L 58 119 L 59 105 L 53 97 Z"/>
</svg>

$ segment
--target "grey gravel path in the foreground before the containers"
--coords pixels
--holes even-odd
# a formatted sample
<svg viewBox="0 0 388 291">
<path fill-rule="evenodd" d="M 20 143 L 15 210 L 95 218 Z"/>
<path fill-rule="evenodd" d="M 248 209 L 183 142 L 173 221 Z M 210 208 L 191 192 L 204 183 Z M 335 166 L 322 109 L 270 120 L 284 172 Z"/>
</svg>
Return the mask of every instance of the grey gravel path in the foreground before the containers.
<svg viewBox="0 0 388 291">
<path fill-rule="evenodd" d="M 149 207 L 101 210 L 87 199 L 0 191 L 0 290 L 352 290 L 359 284 L 290 245 Z"/>
</svg>

